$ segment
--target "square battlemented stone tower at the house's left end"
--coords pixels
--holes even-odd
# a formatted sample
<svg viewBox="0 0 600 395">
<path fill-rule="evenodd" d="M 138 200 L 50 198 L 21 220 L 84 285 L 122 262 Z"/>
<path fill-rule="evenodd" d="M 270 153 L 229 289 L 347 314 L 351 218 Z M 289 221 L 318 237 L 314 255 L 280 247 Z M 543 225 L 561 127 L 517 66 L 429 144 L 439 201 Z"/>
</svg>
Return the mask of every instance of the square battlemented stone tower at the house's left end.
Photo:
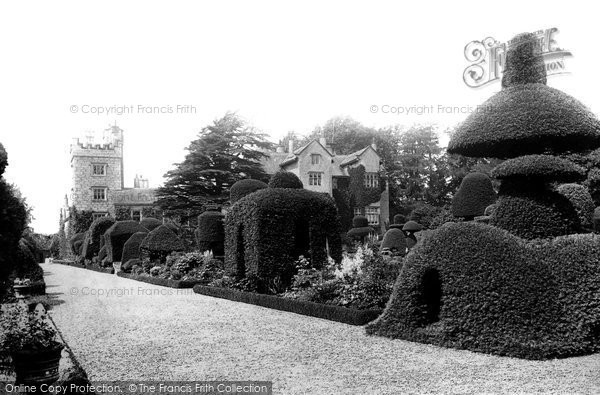
<svg viewBox="0 0 600 395">
<path fill-rule="evenodd" d="M 71 143 L 70 205 L 95 217 L 114 216 L 113 194 L 123 189 L 123 130 L 116 124 Z"/>
</svg>

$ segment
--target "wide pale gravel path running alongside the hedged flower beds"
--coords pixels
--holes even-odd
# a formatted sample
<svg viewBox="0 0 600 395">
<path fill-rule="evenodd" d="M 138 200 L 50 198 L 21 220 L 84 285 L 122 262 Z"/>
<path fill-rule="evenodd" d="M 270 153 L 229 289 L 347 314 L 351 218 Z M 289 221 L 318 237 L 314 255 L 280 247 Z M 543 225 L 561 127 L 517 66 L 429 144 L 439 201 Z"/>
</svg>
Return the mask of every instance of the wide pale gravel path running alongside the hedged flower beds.
<svg viewBox="0 0 600 395">
<path fill-rule="evenodd" d="M 191 290 L 42 267 L 57 302 L 50 314 L 91 380 L 267 380 L 278 394 L 600 393 L 600 354 L 500 358 L 367 337 L 362 327 Z"/>
</svg>

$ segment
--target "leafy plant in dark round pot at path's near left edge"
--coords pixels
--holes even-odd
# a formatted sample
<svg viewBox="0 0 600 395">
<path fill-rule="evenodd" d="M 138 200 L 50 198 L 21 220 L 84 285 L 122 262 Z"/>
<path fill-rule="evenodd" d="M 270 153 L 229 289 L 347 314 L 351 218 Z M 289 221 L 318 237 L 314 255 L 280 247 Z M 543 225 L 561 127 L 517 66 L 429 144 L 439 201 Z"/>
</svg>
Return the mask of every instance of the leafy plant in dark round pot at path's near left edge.
<svg viewBox="0 0 600 395">
<path fill-rule="evenodd" d="M 58 380 L 63 345 L 45 310 L 29 311 L 25 303 L 2 306 L 0 349 L 10 354 L 17 384 L 44 384 Z"/>
</svg>

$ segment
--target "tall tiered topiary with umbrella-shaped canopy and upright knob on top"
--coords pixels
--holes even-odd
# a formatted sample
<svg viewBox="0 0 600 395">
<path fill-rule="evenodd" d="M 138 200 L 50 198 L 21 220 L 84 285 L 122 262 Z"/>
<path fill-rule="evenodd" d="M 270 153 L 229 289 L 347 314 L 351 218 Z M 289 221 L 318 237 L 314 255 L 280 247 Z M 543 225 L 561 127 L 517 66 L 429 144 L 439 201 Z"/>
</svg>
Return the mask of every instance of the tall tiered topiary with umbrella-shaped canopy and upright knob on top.
<svg viewBox="0 0 600 395">
<path fill-rule="evenodd" d="M 537 39 L 515 37 L 507 52 L 503 89 L 458 128 L 448 152 L 474 157 L 515 158 L 492 176 L 502 180 L 491 224 L 527 239 L 578 229 L 572 206 L 551 183 L 571 181 L 581 169 L 547 154 L 600 146 L 600 122 L 573 97 L 545 85 Z"/>
</svg>

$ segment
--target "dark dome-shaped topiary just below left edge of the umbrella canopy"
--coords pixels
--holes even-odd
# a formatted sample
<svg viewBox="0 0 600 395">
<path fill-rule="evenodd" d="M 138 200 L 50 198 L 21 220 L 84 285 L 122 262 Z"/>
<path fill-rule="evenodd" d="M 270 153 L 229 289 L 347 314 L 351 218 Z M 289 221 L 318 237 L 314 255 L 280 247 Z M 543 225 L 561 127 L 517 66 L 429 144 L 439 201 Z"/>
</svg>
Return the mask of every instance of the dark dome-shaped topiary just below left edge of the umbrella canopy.
<svg viewBox="0 0 600 395">
<path fill-rule="evenodd" d="M 483 215 L 485 208 L 495 201 L 492 180 L 483 173 L 469 173 L 452 198 L 452 215 L 472 219 Z"/>
</svg>

